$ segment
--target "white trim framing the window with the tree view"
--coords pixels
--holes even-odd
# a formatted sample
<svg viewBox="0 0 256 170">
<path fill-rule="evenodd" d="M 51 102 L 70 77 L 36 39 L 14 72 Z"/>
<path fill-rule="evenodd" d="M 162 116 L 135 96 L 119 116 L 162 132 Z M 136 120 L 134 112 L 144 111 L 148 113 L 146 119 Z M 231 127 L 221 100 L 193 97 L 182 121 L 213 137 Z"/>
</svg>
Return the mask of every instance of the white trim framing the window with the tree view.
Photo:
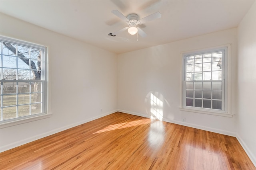
<svg viewBox="0 0 256 170">
<path fill-rule="evenodd" d="M 40 47 L 44 51 L 44 68 L 42 68 L 42 69 L 46 70 L 46 71 L 42 72 L 42 74 L 44 74 L 42 76 L 44 76 L 44 78 L 45 78 L 45 80 L 44 80 L 45 81 L 44 95 L 42 96 L 42 101 L 44 102 L 44 105 L 43 105 L 44 112 L 40 113 L 40 114 L 35 114 L 35 115 L 28 115 L 28 116 L 24 116 L 24 117 L 17 117 L 14 119 L 8 119 L 6 121 L 0 121 L 0 129 L 50 117 L 52 114 L 48 113 L 49 93 L 48 93 L 48 52 L 47 52 L 47 47 L 44 47 L 43 45 L 38 45 L 35 43 L 29 43 L 29 42 L 26 42 L 23 40 L 4 37 L 4 36 L 0 36 L 0 40 L 6 41 L 6 42 L 12 43 L 12 44 L 30 46 L 32 48 Z"/>
</svg>

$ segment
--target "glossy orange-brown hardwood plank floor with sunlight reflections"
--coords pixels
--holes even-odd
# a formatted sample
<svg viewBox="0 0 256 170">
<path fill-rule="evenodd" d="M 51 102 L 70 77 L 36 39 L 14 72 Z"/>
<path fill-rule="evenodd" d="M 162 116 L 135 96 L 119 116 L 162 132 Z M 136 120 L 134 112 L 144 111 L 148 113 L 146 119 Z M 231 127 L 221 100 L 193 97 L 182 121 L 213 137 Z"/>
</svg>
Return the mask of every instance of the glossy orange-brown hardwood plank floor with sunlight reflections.
<svg viewBox="0 0 256 170">
<path fill-rule="evenodd" d="M 120 112 L 2 152 L 0 169 L 256 170 L 235 137 Z"/>
</svg>

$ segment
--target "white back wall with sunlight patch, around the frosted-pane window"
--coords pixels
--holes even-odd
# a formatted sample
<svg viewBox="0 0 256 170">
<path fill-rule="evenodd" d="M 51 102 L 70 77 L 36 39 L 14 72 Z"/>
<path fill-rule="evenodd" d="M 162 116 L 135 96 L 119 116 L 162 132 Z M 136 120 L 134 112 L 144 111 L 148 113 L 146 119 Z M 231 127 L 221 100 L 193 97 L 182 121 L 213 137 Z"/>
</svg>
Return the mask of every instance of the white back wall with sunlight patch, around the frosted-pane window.
<svg viewBox="0 0 256 170">
<path fill-rule="evenodd" d="M 236 115 L 223 117 L 180 110 L 182 52 L 232 44 L 231 98 L 236 94 L 237 29 L 228 29 L 118 55 L 118 109 L 150 117 L 150 94 L 163 102 L 163 120 L 236 135 Z M 231 112 L 235 113 L 230 101 Z M 186 123 L 182 122 L 186 118 Z"/>
</svg>

